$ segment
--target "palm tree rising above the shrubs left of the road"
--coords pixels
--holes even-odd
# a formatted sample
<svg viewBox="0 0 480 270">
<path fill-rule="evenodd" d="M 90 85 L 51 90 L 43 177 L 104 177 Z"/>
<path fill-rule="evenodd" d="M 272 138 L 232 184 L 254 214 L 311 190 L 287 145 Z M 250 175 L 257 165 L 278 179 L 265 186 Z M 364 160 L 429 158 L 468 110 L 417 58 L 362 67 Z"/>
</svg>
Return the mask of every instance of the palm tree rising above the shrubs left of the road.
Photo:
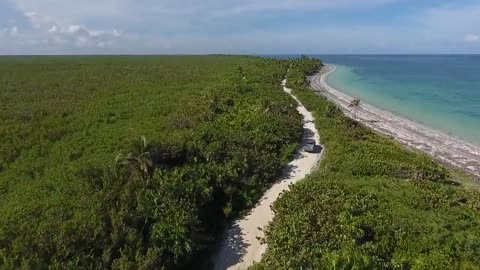
<svg viewBox="0 0 480 270">
<path fill-rule="evenodd" d="M 155 166 L 150 153 L 150 145 L 147 139 L 142 136 L 139 144 L 130 153 L 121 153 L 115 158 L 117 168 L 126 169 L 130 175 L 140 175 L 148 182 L 153 177 Z"/>
</svg>

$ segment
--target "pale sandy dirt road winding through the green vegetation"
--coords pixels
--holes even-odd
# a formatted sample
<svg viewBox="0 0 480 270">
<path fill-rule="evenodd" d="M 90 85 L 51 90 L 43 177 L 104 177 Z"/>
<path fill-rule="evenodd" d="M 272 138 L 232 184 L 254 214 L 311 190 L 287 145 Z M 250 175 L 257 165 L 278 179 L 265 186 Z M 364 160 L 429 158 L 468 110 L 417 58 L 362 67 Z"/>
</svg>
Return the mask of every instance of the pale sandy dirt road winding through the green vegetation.
<svg viewBox="0 0 480 270">
<path fill-rule="evenodd" d="M 313 138 L 319 143 L 320 135 L 315 128 L 315 119 L 312 113 L 307 111 L 301 102 L 292 95 L 291 90 L 285 87 L 285 81 L 283 89 L 298 102 L 297 110 L 304 119 L 304 140 Z M 260 239 L 265 237 L 263 230 L 273 220 L 271 205 L 284 191 L 289 189 L 290 185 L 305 178 L 317 166 L 322 152 L 320 147 L 315 153 L 299 150 L 295 160 L 286 168 L 284 177 L 264 194 L 258 205 L 249 214 L 235 221 L 226 232 L 219 252 L 214 257 L 214 269 L 246 269 L 254 262 L 261 260 L 266 245 L 262 244 Z"/>
</svg>

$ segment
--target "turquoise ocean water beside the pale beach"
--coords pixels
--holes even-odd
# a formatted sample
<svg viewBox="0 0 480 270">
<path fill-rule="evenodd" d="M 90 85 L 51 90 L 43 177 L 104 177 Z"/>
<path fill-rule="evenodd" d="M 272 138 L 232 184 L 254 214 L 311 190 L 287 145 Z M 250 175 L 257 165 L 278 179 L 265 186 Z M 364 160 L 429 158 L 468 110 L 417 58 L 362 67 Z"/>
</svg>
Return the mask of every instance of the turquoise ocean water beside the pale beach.
<svg viewBox="0 0 480 270">
<path fill-rule="evenodd" d="M 480 56 L 322 55 L 327 82 L 366 103 L 480 145 Z"/>
</svg>

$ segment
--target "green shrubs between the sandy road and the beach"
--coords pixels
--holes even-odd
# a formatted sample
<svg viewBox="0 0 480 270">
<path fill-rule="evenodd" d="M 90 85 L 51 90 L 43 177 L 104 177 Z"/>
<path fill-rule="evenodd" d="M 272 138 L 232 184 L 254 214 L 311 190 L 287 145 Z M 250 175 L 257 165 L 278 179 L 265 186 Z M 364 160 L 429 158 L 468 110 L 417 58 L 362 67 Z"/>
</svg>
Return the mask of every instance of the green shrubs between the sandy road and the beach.
<svg viewBox="0 0 480 270">
<path fill-rule="evenodd" d="M 253 269 L 480 269 L 480 193 L 315 96 L 305 74 L 319 66 L 296 62 L 289 83 L 314 112 L 325 158 L 275 203 Z"/>
</svg>

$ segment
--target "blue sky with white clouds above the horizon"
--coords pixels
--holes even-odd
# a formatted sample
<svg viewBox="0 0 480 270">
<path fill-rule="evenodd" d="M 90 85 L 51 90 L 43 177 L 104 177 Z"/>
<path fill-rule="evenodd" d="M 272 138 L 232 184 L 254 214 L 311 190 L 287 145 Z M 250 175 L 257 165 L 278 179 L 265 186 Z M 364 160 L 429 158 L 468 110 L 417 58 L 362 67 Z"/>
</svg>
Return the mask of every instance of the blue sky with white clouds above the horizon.
<svg viewBox="0 0 480 270">
<path fill-rule="evenodd" d="M 0 54 L 480 54 L 480 0 L 0 0 Z"/>
</svg>

